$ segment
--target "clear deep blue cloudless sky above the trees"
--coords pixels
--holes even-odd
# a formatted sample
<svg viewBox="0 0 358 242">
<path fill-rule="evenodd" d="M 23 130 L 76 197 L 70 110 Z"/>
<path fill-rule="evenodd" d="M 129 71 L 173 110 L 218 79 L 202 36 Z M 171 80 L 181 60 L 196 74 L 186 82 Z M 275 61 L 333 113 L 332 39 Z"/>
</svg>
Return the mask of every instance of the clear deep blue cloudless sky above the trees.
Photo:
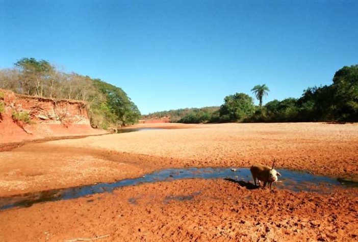
<svg viewBox="0 0 358 242">
<path fill-rule="evenodd" d="M 298 98 L 358 64 L 358 1 L 0 0 L 0 68 L 22 57 L 119 86 L 142 114 L 257 84 L 264 103 Z"/>
</svg>

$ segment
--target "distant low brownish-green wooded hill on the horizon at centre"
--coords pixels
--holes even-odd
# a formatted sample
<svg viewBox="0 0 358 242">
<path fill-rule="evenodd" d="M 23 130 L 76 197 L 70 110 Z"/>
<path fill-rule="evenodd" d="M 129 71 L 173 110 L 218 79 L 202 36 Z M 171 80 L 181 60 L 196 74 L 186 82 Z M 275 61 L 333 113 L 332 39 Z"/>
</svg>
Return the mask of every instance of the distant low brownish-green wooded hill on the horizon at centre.
<svg viewBox="0 0 358 242">
<path fill-rule="evenodd" d="M 199 124 L 212 122 L 220 107 L 184 108 L 143 115 L 143 119 L 169 117 L 171 123 Z"/>
</svg>

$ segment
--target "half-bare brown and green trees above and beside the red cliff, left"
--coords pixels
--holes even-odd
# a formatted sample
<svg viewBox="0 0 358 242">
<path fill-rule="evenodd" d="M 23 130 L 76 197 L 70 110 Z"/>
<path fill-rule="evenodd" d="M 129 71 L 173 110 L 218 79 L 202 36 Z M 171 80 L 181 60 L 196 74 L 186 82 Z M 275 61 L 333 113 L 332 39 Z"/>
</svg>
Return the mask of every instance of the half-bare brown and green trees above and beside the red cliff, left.
<svg viewBox="0 0 358 242">
<path fill-rule="evenodd" d="M 0 88 L 50 99 L 86 101 L 92 127 L 108 129 L 134 124 L 137 106 L 119 87 L 100 79 L 58 70 L 45 60 L 22 58 L 13 68 L 0 70 Z"/>
</svg>

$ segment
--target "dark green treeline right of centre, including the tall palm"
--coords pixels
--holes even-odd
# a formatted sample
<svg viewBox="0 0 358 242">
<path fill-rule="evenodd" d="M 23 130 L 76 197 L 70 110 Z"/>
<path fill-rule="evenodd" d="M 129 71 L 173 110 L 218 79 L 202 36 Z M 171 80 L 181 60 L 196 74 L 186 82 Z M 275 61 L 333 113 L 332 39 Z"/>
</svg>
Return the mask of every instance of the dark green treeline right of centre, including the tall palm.
<svg viewBox="0 0 358 242">
<path fill-rule="evenodd" d="M 338 70 L 331 85 L 309 87 L 299 99 L 273 100 L 262 105 L 268 94 L 266 85 L 251 90 L 260 102 L 255 106 L 253 98 L 245 93 L 235 93 L 224 98 L 217 109 L 206 113 L 205 118 L 189 111 L 174 122 L 224 123 L 224 122 L 357 122 L 358 121 L 358 65 L 344 66 Z M 200 110 L 200 109 L 196 109 Z M 165 115 L 178 112 L 171 110 Z M 158 112 L 160 114 L 162 112 Z M 183 112 L 182 112 L 183 113 Z"/>
</svg>

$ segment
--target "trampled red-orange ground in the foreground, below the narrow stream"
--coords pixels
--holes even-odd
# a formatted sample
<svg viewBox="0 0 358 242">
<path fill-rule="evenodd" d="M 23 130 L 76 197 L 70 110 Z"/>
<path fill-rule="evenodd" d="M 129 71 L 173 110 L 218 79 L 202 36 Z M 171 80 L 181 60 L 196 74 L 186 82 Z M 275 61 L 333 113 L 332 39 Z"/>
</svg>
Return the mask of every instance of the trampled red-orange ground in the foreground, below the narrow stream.
<svg viewBox="0 0 358 242">
<path fill-rule="evenodd" d="M 160 182 L 0 211 L 0 234 L 3 241 L 354 241 L 357 195 Z"/>
</svg>

